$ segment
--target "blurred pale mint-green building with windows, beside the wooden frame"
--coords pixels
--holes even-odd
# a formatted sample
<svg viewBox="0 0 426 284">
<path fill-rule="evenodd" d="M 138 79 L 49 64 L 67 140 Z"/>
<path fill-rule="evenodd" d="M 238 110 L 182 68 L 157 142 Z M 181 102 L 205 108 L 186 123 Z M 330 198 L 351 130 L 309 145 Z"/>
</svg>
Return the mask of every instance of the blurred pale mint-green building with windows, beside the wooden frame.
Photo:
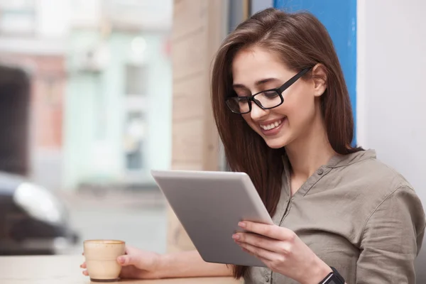
<svg viewBox="0 0 426 284">
<path fill-rule="evenodd" d="M 149 183 L 170 163 L 172 3 L 94 2 L 72 13 L 63 185 Z"/>
</svg>

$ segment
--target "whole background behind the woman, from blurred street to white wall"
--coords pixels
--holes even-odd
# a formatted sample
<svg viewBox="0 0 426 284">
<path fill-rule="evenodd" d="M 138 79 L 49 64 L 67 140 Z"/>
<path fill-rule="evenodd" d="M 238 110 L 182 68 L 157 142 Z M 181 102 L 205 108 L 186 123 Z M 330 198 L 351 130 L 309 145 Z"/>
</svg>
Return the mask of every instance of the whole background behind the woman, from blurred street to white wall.
<svg viewBox="0 0 426 284">
<path fill-rule="evenodd" d="M 422 0 L 0 0 L 0 254 L 191 249 L 151 169 L 226 170 L 209 67 L 271 6 L 327 27 L 356 138 L 426 204 Z"/>
</svg>

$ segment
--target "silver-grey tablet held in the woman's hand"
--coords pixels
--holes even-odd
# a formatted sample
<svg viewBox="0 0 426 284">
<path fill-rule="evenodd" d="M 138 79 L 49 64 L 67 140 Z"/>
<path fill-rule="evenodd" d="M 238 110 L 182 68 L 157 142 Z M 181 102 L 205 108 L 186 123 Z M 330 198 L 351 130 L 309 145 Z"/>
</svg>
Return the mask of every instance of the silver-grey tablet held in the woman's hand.
<svg viewBox="0 0 426 284">
<path fill-rule="evenodd" d="M 241 220 L 273 224 L 246 173 L 152 170 L 151 174 L 202 259 L 211 263 L 266 266 L 241 250 L 232 234 Z"/>
</svg>

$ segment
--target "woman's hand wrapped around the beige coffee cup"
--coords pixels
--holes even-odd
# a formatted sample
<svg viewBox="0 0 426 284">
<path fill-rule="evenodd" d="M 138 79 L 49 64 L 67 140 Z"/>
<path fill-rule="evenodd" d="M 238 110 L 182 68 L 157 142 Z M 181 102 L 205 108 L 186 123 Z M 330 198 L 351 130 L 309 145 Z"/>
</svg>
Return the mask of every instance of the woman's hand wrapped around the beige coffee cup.
<svg viewBox="0 0 426 284">
<path fill-rule="evenodd" d="M 160 255 L 149 251 L 141 251 L 140 249 L 126 246 L 126 255 L 119 256 L 117 262 L 122 266 L 120 278 L 131 279 L 156 279 L 160 278 L 158 269 L 160 263 Z M 87 273 L 86 263 L 80 266 L 84 268 L 83 274 Z"/>
</svg>

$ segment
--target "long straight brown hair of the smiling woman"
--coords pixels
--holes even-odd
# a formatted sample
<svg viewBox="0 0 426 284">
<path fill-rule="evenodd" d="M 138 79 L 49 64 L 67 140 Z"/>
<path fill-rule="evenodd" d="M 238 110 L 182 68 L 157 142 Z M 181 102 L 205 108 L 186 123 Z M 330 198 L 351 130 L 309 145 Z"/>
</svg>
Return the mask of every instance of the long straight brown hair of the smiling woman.
<svg viewBox="0 0 426 284">
<path fill-rule="evenodd" d="M 224 151 L 233 171 L 247 173 L 271 216 L 275 214 L 283 175 L 284 148 L 269 148 L 239 114 L 227 109 L 225 98 L 234 95 L 231 62 L 241 48 L 258 46 L 271 50 L 285 65 L 297 72 L 321 63 L 327 75 L 327 89 L 321 108 L 329 143 L 346 155 L 361 150 L 351 146 L 354 137 L 349 93 L 342 68 L 326 28 L 310 13 L 285 13 L 266 9 L 251 16 L 230 33 L 217 52 L 212 70 L 214 119 Z M 312 76 L 310 72 L 306 76 Z M 240 278 L 246 267 L 235 266 Z"/>
</svg>

